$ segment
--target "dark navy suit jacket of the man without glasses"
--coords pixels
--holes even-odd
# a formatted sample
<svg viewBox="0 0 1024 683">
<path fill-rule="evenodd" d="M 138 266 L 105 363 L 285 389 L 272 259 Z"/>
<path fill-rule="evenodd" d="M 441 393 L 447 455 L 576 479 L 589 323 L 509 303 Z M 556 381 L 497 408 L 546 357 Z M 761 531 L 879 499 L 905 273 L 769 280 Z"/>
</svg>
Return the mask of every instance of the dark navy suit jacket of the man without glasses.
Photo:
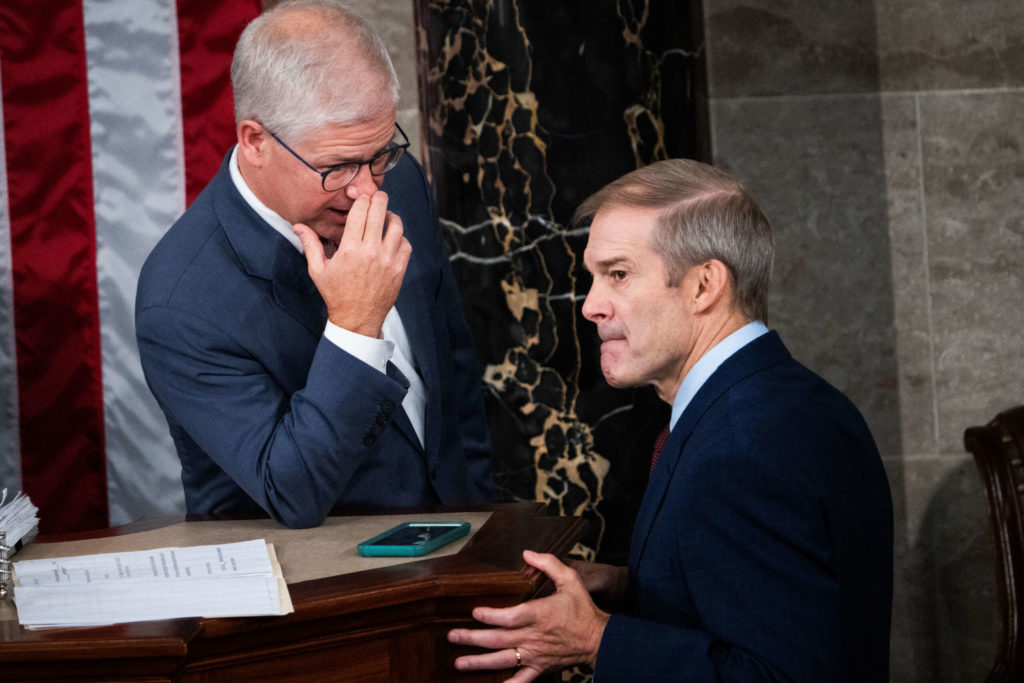
<svg viewBox="0 0 1024 683">
<path fill-rule="evenodd" d="M 672 430 L 595 680 L 887 681 L 892 535 L 860 414 L 770 332 Z"/>
</svg>

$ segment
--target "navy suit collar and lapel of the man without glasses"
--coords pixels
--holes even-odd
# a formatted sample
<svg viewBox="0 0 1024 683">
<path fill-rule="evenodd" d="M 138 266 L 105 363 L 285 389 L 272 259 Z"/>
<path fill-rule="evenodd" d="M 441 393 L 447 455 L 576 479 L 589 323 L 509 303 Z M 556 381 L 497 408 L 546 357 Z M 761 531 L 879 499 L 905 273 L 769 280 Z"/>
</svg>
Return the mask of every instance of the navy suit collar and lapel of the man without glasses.
<svg viewBox="0 0 1024 683">
<path fill-rule="evenodd" d="M 651 473 L 640 502 L 640 511 L 633 526 L 633 537 L 630 541 L 630 567 L 635 569 L 643 557 L 647 539 L 650 536 L 654 519 L 657 517 L 668 494 L 676 468 L 679 466 L 683 450 L 693 430 L 696 429 L 703 415 L 733 385 L 751 375 L 774 366 L 792 356 L 775 332 L 768 332 L 742 347 L 725 362 L 719 366 L 703 386 L 697 391 L 683 414 L 679 416 L 676 426 L 669 434 L 669 440 L 662 450 L 657 467 Z M 635 572 L 630 572 L 633 581 Z"/>
</svg>

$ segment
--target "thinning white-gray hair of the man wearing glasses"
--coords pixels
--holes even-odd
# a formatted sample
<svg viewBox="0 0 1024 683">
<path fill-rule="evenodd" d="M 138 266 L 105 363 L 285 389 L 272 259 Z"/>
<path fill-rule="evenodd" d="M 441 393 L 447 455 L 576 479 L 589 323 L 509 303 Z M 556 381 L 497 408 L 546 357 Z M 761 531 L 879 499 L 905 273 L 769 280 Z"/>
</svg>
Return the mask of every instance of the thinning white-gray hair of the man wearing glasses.
<svg viewBox="0 0 1024 683">
<path fill-rule="evenodd" d="M 291 15 L 291 23 L 282 20 Z M 242 32 L 231 60 L 236 123 L 252 119 L 290 140 L 328 124 L 362 123 L 398 106 L 384 42 L 335 0 L 291 0 Z"/>
</svg>

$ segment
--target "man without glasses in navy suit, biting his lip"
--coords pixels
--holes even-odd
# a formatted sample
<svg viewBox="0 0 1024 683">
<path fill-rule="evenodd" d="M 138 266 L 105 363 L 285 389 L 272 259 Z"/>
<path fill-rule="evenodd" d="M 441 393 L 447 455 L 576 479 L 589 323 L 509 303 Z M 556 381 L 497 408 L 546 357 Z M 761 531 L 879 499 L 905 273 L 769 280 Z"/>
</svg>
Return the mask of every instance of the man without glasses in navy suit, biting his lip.
<svg viewBox="0 0 1024 683">
<path fill-rule="evenodd" d="M 615 387 L 672 405 L 628 567 L 526 551 L 554 595 L 477 607 L 460 670 L 600 681 L 889 680 L 893 517 L 857 409 L 765 325 L 773 240 L 735 180 L 674 159 L 584 202 L 583 314 Z M 600 609 L 591 595 L 618 598 Z"/>
</svg>

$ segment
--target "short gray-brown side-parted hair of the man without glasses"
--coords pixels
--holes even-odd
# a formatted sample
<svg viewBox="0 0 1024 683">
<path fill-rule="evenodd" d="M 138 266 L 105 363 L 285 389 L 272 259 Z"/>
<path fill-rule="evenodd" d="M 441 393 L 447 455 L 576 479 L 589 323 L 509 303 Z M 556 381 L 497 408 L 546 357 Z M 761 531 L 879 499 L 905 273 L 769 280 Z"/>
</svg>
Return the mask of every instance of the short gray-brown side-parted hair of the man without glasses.
<svg viewBox="0 0 1024 683">
<path fill-rule="evenodd" d="M 573 223 L 605 205 L 657 210 L 651 248 L 676 287 L 694 265 L 717 259 L 729 269 L 735 302 L 752 321 L 768 321 L 775 245 L 771 225 L 742 186 L 724 172 L 689 159 L 637 169 L 587 198 Z"/>
</svg>

